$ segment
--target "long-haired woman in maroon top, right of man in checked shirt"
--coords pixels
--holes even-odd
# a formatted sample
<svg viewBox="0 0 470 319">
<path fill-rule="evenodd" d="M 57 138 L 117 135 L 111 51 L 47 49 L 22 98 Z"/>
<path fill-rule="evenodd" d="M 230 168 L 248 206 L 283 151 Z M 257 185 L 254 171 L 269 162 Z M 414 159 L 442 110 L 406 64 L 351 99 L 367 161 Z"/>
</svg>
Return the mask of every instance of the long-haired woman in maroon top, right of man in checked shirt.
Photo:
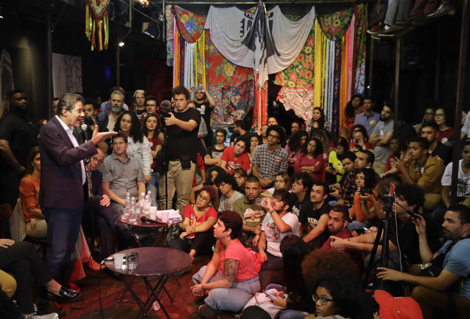
<svg viewBox="0 0 470 319">
<path fill-rule="evenodd" d="M 302 153 L 295 161 L 294 171 L 307 172 L 314 180 L 325 180 L 323 174 L 323 146 L 316 137 L 311 137 L 304 145 Z"/>
</svg>

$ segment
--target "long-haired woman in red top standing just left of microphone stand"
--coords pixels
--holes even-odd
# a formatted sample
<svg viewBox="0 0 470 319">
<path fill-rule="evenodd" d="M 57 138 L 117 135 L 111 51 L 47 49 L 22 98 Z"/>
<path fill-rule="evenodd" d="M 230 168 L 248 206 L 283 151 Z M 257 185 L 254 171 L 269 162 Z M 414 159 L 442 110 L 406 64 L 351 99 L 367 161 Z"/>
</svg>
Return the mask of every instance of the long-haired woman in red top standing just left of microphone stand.
<svg viewBox="0 0 470 319">
<path fill-rule="evenodd" d="M 151 192 L 150 197 L 152 198 L 152 206 L 157 206 L 157 190 L 159 178 L 159 173 L 153 171 L 153 168 L 155 167 L 155 158 L 157 157 L 157 153 L 163 147 L 163 143 L 160 142 L 160 140 L 158 139 L 159 131 L 160 129 L 158 128 L 158 116 L 156 114 L 148 114 L 147 118 L 145 119 L 144 126 L 142 127 L 142 132 L 150 143 L 150 149 L 153 157 L 153 162 L 151 166 L 152 180 L 145 186 L 147 191 Z"/>
</svg>

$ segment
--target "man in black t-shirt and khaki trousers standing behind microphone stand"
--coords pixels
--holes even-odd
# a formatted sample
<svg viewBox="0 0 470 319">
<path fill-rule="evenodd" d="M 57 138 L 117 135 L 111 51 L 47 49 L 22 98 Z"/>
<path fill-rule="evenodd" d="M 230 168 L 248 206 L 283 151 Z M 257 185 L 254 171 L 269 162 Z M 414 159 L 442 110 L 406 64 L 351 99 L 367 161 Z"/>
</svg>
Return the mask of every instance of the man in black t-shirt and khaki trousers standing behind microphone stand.
<svg viewBox="0 0 470 319">
<path fill-rule="evenodd" d="M 171 92 L 175 108 L 164 117 L 167 130 L 168 158 L 168 193 L 165 194 L 165 175 L 160 174 L 159 194 L 160 209 L 165 208 L 165 195 L 168 198 L 168 209 L 173 206 L 173 195 L 177 194 L 177 209 L 180 212 L 189 204 L 192 177 L 197 161 L 196 140 L 201 114 L 188 106 L 189 91 L 184 86 L 177 86 Z M 159 135 L 164 142 L 163 132 Z"/>
</svg>

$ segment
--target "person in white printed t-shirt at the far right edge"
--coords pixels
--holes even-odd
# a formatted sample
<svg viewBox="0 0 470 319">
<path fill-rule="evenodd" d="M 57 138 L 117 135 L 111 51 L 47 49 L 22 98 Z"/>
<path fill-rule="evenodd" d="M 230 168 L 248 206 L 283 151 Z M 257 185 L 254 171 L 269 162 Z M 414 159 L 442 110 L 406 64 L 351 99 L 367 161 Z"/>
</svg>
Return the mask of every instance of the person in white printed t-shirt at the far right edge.
<svg viewBox="0 0 470 319">
<path fill-rule="evenodd" d="M 452 184 L 452 162 L 447 164 L 441 179 L 442 201 L 450 205 L 450 185 Z M 470 204 L 470 141 L 462 144 L 462 159 L 459 161 L 459 174 L 457 177 L 457 202 L 469 206 Z"/>
</svg>

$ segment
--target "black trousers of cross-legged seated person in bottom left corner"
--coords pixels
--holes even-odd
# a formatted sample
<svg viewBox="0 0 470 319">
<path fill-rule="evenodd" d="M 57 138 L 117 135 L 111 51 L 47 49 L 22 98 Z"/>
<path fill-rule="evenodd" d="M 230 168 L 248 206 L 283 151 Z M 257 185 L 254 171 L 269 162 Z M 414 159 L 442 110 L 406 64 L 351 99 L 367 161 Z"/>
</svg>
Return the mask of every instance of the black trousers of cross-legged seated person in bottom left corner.
<svg viewBox="0 0 470 319">
<path fill-rule="evenodd" d="M 8 248 L 0 248 L 0 269 L 15 275 L 16 298 L 20 310 L 25 314 L 34 312 L 31 292 L 33 277 L 39 285 L 52 280 L 52 276 L 34 246 L 27 241 L 20 241 Z"/>
</svg>

